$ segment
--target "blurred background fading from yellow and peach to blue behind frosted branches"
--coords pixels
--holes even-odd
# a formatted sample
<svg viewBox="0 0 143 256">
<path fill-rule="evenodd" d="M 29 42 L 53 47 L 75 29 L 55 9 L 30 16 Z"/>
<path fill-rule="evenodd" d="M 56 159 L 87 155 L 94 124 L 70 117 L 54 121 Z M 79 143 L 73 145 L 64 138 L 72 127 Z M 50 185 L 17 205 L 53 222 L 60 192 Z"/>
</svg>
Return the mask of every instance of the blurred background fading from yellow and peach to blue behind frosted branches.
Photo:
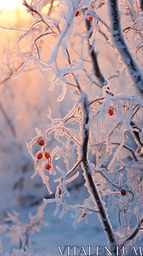
<svg viewBox="0 0 143 256">
<path fill-rule="evenodd" d="M 28 28 L 28 23 L 31 20 L 30 15 L 26 12 L 25 6 L 22 6 L 22 1 L 17 0 L 0 0 L 0 25 L 6 26 L 9 23 L 13 27 Z M 46 1 L 45 1 L 46 2 Z M 47 14 L 50 4 L 45 5 L 42 13 Z M 53 2 L 54 11 L 51 11 L 51 17 L 58 15 L 58 1 Z M 57 8 L 57 9 L 56 9 Z M 98 10 L 101 17 L 106 20 L 106 6 L 103 4 Z M 82 14 L 82 13 L 81 13 Z M 85 24 L 80 28 L 76 28 L 77 36 L 75 36 L 74 50 L 71 51 L 73 59 L 78 58 L 78 29 L 85 29 Z M 102 32 L 104 27 L 101 26 Z M 48 117 L 48 108 L 52 110 L 54 118 L 63 117 L 66 115 L 68 109 L 72 107 L 71 88 L 67 88 L 66 97 L 62 102 L 57 101 L 61 93 L 61 87 L 56 86 L 52 91 L 48 90 L 50 81 L 50 71 L 45 72 L 40 76 L 37 67 L 29 64 L 22 74 L 16 78 L 11 79 L 10 76 L 19 68 L 23 59 L 18 54 L 18 49 L 15 44 L 17 41 L 17 31 L 10 31 L 0 29 L 0 224 L 4 224 L 4 218 L 7 217 L 7 211 L 19 212 L 19 219 L 23 224 L 28 223 L 28 212 L 35 214 L 38 206 L 42 203 L 44 198 L 49 197 L 46 186 L 42 183 L 39 175 L 34 176 L 34 163 L 33 159 L 26 149 L 26 142 L 30 142 L 31 138 L 36 135 L 35 128 L 41 129 L 44 132 L 50 123 Z M 36 30 L 35 30 L 36 35 Z M 32 35 L 31 35 L 32 36 Z M 29 40 L 29 39 L 28 39 Z M 23 40 L 20 48 L 27 49 L 27 55 L 31 50 L 32 45 L 28 40 Z M 42 42 L 42 49 L 45 56 L 49 57 L 52 48 L 53 36 L 46 37 Z M 50 41 L 50 42 L 49 42 Z M 30 42 L 30 41 L 29 41 Z M 95 49 L 100 52 L 98 61 L 103 75 L 108 78 L 114 71 L 121 68 L 121 63 L 118 61 L 118 54 L 114 51 L 113 46 L 107 42 L 107 39 L 100 32 L 97 33 L 95 39 Z M 85 40 L 84 51 L 87 51 L 87 41 Z M 59 56 L 59 63 L 63 65 L 62 54 Z M 87 70 L 90 69 L 90 64 L 87 63 Z M 82 74 L 81 74 L 82 76 Z M 81 77 L 82 80 L 82 77 Z M 116 81 L 116 82 L 115 82 Z M 126 85 L 130 84 L 129 77 L 125 74 L 125 69 L 118 79 L 112 78 L 111 84 L 117 91 L 132 94 L 132 89 Z M 86 85 L 85 85 L 86 88 Z M 91 95 L 94 98 L 102 95 L 101 89 L 93 85 Z M 137 93 L 137 92 L 136 92 Z M 128 135 L 129 136 L 129 135 Z M 129 136 L 127 143 L 130 145 L 132 138 Z M 54 138 L 48 140 L 47 148 L 49 152 L 57 145 Z M 59 143 L 60 146 L 60 143 Z M 135 147 L 135 145 L 132 145 Z M 35 146 L 35 152 L 38 150 L 38 144 Z M 72 160 L 67 157 L 67 163 L 63 159 L 58 159 L 58 164 L 62 166 L 68 164 L 72 166 L 74 151 L 71 152 Z M 71 156 L 70 156 L 71 157 Z M 94 156 L 91 156 L 94 163 Z M 54 164 L 54 162 L 53 162 Z M 59 164 L 59 165 L 60 165 Z M 31 177 L 33 179 L 31 179 Z M 55 179 L 52 178 L 53 180 Z M 71 185 L 72 184 L 72 185 Z M 69 191 L 72 199 L 82 202 L 87 197 L 87 188 L 84 187 L 84 178 L 80 173 L 78 179 L 70 183 Z M 72 187 L 71 187 L 72 186 Z M 56 184 L 53 182 L 51 185 L 52 191 L 56 191 Z M 75 202 L 74 201 L 74 202 Z M 41 233 L 34 233 L 30 236 L 30 247 L 33 255 L 58 255 L 56 249 L 57 245 L 103 245 L 105 241 L 105 234 L 102 231 L 100 221 L 97 216 L 90 215 L 89 224 L 79 223 L 77 230 L 72 227 L 69 219 L 69 213 L 62 221 L 58 216 L 54 217 L 52 214 L 55 210 L 55 205 L 49 205 L 45 209 L 44 220 L 49 223 L 48 227 L 42 227 Z M 116 229 L 115 220 L 116 214 L 110 212 L 111 224 Z M 114 217 L 115 216 L 115 217 Z M 98 232 L 98 237 L 94 234 Z M 6 234 L 6 233 L 5 233 Z M 61 235 L 60 235 L 61 234 Z M 4 250 L 11 252 L 13 244 L 10 243 L 11 239 L 4 234 L 0 234 L 4 244 Z M 95 244 L 96 242 L 96 244 Z M 19 246 L 19 244 L 17 244 Z M 33 249 L 32 249 L 33 248 Z"/>
</svg>

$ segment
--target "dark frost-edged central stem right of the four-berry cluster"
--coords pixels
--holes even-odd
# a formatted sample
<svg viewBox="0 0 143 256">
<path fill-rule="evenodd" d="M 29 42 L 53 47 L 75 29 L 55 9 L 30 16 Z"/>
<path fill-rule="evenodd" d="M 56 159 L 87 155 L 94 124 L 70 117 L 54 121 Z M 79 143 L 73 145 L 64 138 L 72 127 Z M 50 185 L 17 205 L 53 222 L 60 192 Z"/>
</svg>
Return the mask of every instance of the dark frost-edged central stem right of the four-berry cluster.
<svg viewBox="0 0 143 256">
<path fill-rule="evenodd" d="M 93 179 L 93 170 L 90 167 L 89 160 L 88 160 L 88 140 L 89 140 L 89 128 L 86 128 L 86 125 L 89 122 L 89 110 L 88 110 L 88 100 L 87 94 L 82 92 L 82 111 L 83 111 L 83 132 L 81 132 L 80 136 L 83 138 L 83 146 L 82 146 L 82 168 L 84 170 L 84 177 L 86 179 L 86 186 L 88 189 L 89 194 L 92 196 L 95 205 L 97 204 L 99 208 L 99 218 L 102 222 L 102 226 L 104 230 L 106 230 L 107 239 L 110 245 L 116 244 L 116 238 L 114 236 L 112 226 L 109 223 L 108 215 L 104 206 L 104 203 L 101 199 L 99 194 L 97 185 Z"/>
</svg>

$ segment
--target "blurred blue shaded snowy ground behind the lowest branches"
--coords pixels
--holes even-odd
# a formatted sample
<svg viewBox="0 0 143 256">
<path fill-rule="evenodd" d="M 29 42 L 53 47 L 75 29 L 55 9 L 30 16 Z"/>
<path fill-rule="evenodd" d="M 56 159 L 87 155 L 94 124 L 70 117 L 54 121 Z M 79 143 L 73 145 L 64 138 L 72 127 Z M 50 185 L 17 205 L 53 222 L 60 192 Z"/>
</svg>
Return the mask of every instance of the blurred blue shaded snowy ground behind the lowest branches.
<svg viewBox="0 0 143 256">
<path fill-rule="evenodd" d="M 87 196 L 87 189 L 85 187 L 81 187 L 71 191 L 70 202 L 71 204 L 76 204 L 77 201 L 82 203 Z M 30 241 L 33 247 L 33 250 L 31 249 L 31 252 L 33 251 L 32 255 L 60 255 L 57 246 L 61 246 L 62 251 L 64 246 L 68 245 L 79 246 L 79 248 L 84 246 L 86 250 L 88 249 L 88 246 L 91 246 L 91 252 L 94 252 L 93 250 L 95 250 L 96 245 L 108 246 L 106 236 L 97 214 L 92 213 L 88 215 L 88 224 L 85 224 L 83 220 L 78 223 L 77 229 L 74 229 L 72 226 L 73 219 L 71 218 L 71 212 L 67 212 L 62 219 L 59 219 L 59 214 L 57 214 L 57 216 L 53 216 L 55 208 L 56 204 L 52 203 L 47 204 L 45 209 L 44 220 L 49 222 L 49 227 L 42 227 L 41 232 L 30 234 Z M 24 221 L 25 223 L 28 221 L 28 211 L 29 210 L 24 210 L 20 212 L 19 219 L 23 220 L 23 223 Z M 30 211 L 35 214 L 37 207 L 34 206 Z M 110 212 L 109 216 L 114 230 L 117 231 L 116 211 Z M 4 252 L 9 251 L 11 253 L 13 247 L 18 248 L 19 245 L 11 244 L 8 237 L 3 234 L 0 234 L 0 236 L 2 237 Z M 71 255 L 73 255 L 72 250 L 73 248 L 71 249 Z M 77 252 L 79 252 L 78 249 Z M 67 251 L 65 251 L 64 255 L 67 255 Z"/>
</svg>

